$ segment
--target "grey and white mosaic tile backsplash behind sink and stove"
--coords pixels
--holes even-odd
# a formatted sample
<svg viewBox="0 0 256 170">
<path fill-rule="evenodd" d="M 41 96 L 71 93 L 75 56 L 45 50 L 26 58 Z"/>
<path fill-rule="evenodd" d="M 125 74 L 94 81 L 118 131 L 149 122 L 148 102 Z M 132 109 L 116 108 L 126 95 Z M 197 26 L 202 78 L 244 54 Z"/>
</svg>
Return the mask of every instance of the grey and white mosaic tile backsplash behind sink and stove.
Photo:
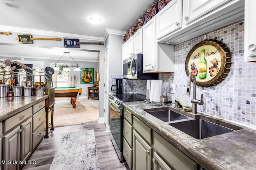
<svg viewBox="0 0 256 170">
<path fill-rule="evenodd" d="M 204 104 L 198 111 L 220 117 L 256 129 L 256 63 L 244 62 L 244 21 L 239 21 L 216 31 L 206 33 L 175 46 L 175 72 L 161 73 L 162 93 L 175 84 L 175 94 L 167 90 L 168 101 L 180 100 L 184 106 L 192 106 L 192 95 L 185 95 L 187 75 L 185 60 L 194 45 L 206 39 L 217 39 L 225 43 L 232 56 L 228 76 L 213 87 L 196 86 L 197 99 L 204 95 Z M 146 95 L 146 80 L 124 80 L 124 90 Z M 191 93 L 192 94 L 192 93 Z"/>
</svg>

